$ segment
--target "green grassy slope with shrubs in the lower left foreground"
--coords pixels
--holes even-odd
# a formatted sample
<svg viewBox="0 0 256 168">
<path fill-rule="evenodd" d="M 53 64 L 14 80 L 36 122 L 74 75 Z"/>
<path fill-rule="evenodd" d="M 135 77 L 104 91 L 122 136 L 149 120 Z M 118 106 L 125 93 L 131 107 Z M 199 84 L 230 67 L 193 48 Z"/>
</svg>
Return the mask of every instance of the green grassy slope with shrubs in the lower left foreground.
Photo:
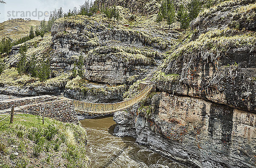
<svg viewBox="0 0 256 168">
<path fill-rule="evenodd" d="M 15 117 L 14 123 L 9 124 L 8 117 L 0 122 L 0 167 L 86 168 L 86 142 L 87 134 L 80 125 L 49 118 L 43 125 L 38 119 L 21 117 Z"/>
</svg>

